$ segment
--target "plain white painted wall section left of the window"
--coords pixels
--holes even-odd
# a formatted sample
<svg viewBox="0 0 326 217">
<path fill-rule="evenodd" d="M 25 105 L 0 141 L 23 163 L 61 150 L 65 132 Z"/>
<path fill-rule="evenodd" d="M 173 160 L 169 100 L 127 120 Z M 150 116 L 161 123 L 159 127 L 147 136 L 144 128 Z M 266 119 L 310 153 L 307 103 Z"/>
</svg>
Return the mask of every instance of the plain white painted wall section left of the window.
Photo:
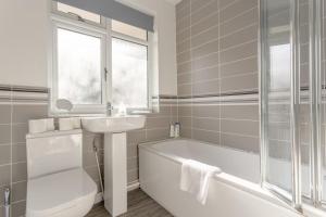
<svg viewBox="0 0 326 217">
<path fill-rule="evenodd" d="M 0 84 L 47 87 L 46 0 L 1 0 Z"/>
</svg>

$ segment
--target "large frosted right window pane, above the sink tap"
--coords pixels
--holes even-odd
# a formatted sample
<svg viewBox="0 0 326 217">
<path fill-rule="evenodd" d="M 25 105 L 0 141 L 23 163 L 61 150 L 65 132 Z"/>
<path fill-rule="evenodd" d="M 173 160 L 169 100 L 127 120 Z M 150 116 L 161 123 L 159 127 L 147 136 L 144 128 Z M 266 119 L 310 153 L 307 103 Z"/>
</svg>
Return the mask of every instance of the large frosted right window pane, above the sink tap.
<svg viewBox="0 0 326 217">
<path fill-rule="evenodd" d="M 147 47 L 112 39 L 113 105 L 148 107 Z"/>
</svg>

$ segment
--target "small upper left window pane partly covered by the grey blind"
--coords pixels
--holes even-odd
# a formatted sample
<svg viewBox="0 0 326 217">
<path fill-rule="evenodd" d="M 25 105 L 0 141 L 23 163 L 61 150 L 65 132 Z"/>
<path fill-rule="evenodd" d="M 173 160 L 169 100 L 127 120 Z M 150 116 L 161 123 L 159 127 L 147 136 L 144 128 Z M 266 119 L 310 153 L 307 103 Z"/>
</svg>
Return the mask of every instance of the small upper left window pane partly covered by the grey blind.
<svg viewBox="0 0 326 217">
<path fill-rule="evenodd" d="M 87 21 L 91 21 L 95 23 L 101 23 L 101 16 L 99 14 L 95 14 L 82 9 L 77 9 L 75 7 L 71 7 L 64 3 L 58 2 L 58 11 L 64 12 L 64 13 L 72 13 L 80 16 L 82 18 L 85 18 Z"/>
</svg>

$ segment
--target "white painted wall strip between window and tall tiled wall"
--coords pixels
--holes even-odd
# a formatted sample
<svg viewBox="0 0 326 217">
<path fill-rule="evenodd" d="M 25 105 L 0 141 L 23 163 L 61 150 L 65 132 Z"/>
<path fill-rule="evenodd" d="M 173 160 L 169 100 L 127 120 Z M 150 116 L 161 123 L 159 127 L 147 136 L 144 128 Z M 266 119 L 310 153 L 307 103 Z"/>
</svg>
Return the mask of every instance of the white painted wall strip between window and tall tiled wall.
<svg viewBox="0 0 326 217">
<path fill-rule="evenodd" d="M 155 16 L 159 33 L 159 91 L 177 94 L 175 7 L 165 0 L 120 0 Z"/>
</svg>

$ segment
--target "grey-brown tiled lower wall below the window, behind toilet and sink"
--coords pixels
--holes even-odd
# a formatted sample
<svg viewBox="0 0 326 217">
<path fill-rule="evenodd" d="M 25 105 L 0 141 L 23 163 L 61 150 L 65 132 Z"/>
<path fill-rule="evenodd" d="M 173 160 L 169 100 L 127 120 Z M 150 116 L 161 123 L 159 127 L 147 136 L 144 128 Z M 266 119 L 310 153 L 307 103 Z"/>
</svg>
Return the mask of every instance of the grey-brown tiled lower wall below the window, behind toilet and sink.
<svg viewBox="0 0 326 217">
<path fill-rule="evenodd" d="M 12 217 L 23 216 L 26 208 L 26 139 L 28 119 L 48 117 L 48 90 L 0 87 L 0 217 L 3 217 L 3 190 L 12 189 Z M 138 180 L 137 144 L 168 137 L 170 123 L 177 122 L 176 103 L 162 103 L 160 113 L 148 115 L 146 128 L 127 135 L 128 183 Z M 84 131 L 83 166 L 98 183 L 92 143 L 96 142 L 103 171 L 103 136 Z"/>
</svg>

